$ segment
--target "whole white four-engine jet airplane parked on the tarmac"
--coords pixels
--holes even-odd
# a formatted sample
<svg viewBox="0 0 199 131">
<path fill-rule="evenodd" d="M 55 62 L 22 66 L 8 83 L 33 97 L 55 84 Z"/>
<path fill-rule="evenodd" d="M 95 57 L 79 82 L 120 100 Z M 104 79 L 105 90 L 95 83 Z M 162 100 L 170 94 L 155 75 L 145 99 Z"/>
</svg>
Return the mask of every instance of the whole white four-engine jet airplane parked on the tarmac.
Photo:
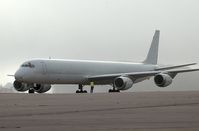
<svg viewBox="0 0 199 131">
<path fill-rule="evenodd" d="M 133 84 L 154 76 L 155 84 L 167 87 L 178 73 L 198 71 L 182 68 L 196 63 L 178 66 L 157 65 L 160 31 L 156 30 L 147 58 L 142 63 L 37 59 L 24 62 L 15 73 L 14 87 L 17 91 L 45 93 L 53 84 L 78 84 L 76 93 L 87 93 L 83 86 L 112 85 L 109 92 L 130 89 Z"/>
</svg>

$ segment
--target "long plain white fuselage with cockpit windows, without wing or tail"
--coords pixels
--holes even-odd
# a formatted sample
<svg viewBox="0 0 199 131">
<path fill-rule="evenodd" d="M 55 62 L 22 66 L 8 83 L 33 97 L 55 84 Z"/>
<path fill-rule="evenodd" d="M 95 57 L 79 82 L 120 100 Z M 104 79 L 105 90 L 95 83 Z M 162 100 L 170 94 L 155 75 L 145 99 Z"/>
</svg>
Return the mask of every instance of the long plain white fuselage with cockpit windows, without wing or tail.
<svg viewBox="0 0 199 131">
<path fill-rule="evenodd" d="M 21 66 L 15 73 L 15 79 L 20 82 L 39 84 L 88 84 L 89 76 L 144 72 L 156 68 L 156 65 L 143 63 L 88 60 L 40 59 L 27 61 L 24 64 L 32 66 Z M 97 84 L 110 84 L 110 82 L 102 81 Z"/>
</svg>

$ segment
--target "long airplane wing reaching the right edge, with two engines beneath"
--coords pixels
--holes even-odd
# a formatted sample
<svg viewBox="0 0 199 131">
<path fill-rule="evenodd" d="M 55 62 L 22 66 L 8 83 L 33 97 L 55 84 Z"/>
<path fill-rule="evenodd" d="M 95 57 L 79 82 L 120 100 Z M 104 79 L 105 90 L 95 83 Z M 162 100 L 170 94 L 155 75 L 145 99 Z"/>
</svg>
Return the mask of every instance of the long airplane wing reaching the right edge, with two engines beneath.
<svg viewBox="0 0 199 131">
<path fill-rule="evenodd" d="M 133 79 L 152 77 L 159 73 L 166 73 L 171 75 L 176 75 L 178 73 L 199 71 L 199 69 L 178 69 L 178 70 L 164 70 L 164 71 L 146 71 L 146 72 L 133 72 L 133 73 L 118 73 L 118 74 L 105 74 L 87 77 L 90 81 L 100 81 L 100 80 L 114 80 L 116 77 L 127 76 Z"/>
</svg>

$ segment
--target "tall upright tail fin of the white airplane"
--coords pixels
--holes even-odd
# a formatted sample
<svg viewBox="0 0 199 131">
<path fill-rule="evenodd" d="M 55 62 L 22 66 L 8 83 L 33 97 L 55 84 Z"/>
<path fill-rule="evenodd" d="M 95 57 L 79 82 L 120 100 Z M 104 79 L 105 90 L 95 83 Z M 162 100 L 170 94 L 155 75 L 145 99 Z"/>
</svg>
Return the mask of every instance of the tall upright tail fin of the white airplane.
<svg viewBox="0 0 199 131">
<path fill-rule="evenodd" d="M 146 60 L 143 62 L 145 64 L 156 65 L 158 62 L 158 47 L 159 47 L 159 37 L 160 31 L 156 30 L 153 36 L 153 41 L 151 43 L 150 50 L 148 52 Z"/>
</svg>

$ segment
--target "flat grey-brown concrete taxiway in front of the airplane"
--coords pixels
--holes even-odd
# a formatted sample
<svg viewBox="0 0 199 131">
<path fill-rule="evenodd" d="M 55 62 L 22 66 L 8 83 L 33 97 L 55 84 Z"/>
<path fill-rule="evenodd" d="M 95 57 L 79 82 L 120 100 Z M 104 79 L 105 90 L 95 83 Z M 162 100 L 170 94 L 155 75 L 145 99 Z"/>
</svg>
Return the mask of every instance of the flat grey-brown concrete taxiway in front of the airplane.
<svg viewBox="0 0 199 131">
<path fill-rule="evenodd" d="M 198 131 L 199 92 L 0 94 L 0 130 Z"/>
</svg>

